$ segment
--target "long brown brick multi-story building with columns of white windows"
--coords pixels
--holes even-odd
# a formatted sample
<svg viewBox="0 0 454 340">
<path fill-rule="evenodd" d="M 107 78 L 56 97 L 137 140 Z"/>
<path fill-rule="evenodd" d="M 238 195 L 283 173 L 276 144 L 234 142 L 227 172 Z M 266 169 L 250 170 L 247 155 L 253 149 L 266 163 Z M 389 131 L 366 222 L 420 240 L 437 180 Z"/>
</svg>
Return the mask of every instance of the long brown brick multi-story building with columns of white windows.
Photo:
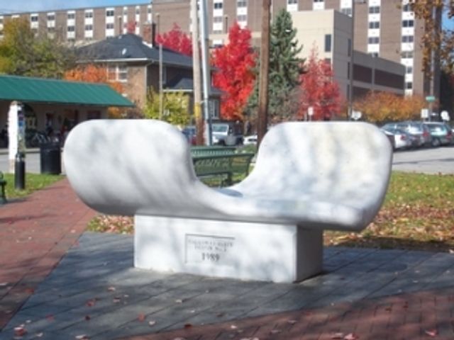
<svg viewBox="0 0 454 340">
<path fill-rule="evenodd" d="M 422 71 L 423 53 L 419 42 L 424 34 L 423 22 L 414 17 L 409 0 L 273 0 L 272 17 L 282 8 L 299 11 L 333 9 L 352 18 L 354 50 L 404 64 L 406 94 L 433 94 L 438 98 L 440 71 L 434 62 L 433 81 Z M 253 43 L 259 45 L 262 25 L 262 0 L 208 0 L 209 36 L 212 45 L 226 42 L 228 28 L 238 21 L 247 26 Z M 189 33 L 191 0 L 153 0 L 148 3 L 55 10 L 38 13 L 0 13 L 0 38 L 3 23 L 11 16 L 26 16 L 31 28 L 40 34 L 60 36 L 64 40 L 83 42 L 101 40 L 119 33 L 143 35 L 144 26 L 156 22 L 159 13 L 160 32 L 167 32 L 177 23 Z M 438 13 L 437 15 L 439 15 Z M 294 23 L 299 26 L 298 22 Z M 300 33 L 301 34 L 301 33 Z M 336 42 L 333 41 L 333 44 Z M 310 49 L 305 46 L 304 49 Z M 436 58 L 434 58 L 436 60 Z"/>
</svg>

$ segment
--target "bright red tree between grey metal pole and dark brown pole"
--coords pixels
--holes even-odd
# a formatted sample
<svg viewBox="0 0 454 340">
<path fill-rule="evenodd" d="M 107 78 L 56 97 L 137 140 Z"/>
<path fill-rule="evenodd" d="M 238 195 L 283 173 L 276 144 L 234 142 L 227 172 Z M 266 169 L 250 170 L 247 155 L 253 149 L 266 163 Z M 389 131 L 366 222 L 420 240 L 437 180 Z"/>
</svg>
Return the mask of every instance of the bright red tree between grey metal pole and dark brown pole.
<svg viewBox="0 0 454 340">
<path fill-rule="evenodd" d="M 228 31 L 228 44 L 213 53 L 214 86 L 224 94 L 221 101 L 221 118 L 243 120 L 243 111 L 253 91 L 255 52 L 250 45 L 250 30 L 235 23 Z"/>
</svg>

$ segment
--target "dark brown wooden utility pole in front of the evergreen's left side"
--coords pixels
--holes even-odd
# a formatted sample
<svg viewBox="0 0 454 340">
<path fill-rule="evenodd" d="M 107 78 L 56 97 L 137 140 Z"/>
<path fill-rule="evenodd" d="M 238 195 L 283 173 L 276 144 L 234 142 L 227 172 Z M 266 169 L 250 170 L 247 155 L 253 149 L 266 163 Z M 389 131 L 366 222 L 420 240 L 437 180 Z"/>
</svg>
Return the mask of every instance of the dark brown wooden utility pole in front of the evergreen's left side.
<svg viewBox="0 0 454 340">
<path fill-rule="evenodd" d="M 270 18 L 271 0 L 262 0 L 262 41 L 260 43 L 260 74 L 258 84 L 257 144 L 267 132 L 268 73 L 270 72 Z"/>
</svg>

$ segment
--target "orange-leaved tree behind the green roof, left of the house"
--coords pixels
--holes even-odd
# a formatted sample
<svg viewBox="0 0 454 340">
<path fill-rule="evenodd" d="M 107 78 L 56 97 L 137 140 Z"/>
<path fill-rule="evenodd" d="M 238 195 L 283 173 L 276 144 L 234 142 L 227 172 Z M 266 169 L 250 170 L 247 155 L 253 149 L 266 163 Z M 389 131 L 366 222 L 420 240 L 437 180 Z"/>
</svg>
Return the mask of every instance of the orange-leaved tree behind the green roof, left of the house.
<svg viewBox="0 0 454 340">
<path fill-rule="evenodd" d="M 117 91 L 118 94 L 123 93 L 123 85 L 121 83 L 118 81 L 109 81 L 106 67 L 94 64 L 81 65 L 65 72 L 63 78 L 70 81 L 107 84 Z M 121 111 L 119 108 L 109 108 L 108 113 L 110 118 L 121 118 Z"/>
</svg>

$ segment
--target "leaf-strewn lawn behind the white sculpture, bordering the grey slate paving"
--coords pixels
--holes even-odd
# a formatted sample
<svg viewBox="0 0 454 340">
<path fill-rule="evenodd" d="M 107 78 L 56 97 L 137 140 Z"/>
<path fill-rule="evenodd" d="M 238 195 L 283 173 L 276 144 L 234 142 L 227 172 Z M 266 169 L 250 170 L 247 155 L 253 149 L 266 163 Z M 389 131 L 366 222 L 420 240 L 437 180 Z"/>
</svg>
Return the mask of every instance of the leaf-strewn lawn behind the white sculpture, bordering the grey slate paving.
<svg viewBox="0 0 454 340">
<path fill-rule="evenodd" d="M 89 229 L 133 232 L 131 217 L 96 217 Z M 360 233 L 325 232 L 325 244 L 454 251 L 454 176 L 393 172 L 379 214 Z"/>
</svg>

